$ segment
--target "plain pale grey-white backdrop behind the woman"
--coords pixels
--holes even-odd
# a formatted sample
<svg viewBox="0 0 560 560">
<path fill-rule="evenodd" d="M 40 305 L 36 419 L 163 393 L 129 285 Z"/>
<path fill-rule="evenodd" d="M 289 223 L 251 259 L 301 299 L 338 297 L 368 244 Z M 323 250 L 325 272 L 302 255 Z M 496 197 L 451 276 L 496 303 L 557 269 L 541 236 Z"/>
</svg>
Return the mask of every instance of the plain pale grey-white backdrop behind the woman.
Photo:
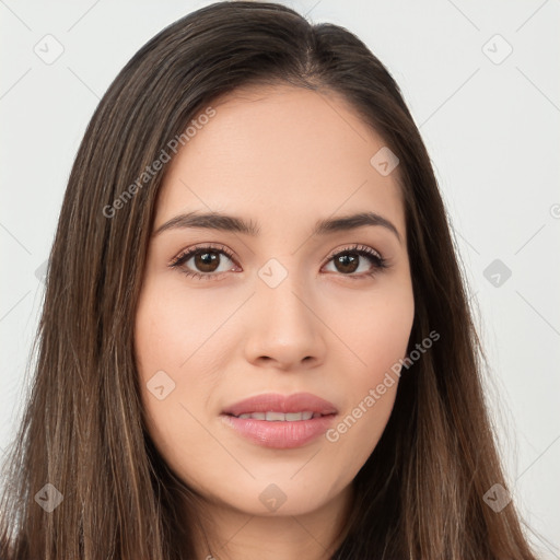
<svg viewBox="0 0 560 560">
<path fill-rule="evenodd" d="M 141 45 L 209 3 L 0 0 L 2 453 L 21 413 L 42 266 L 85 126 Z M 542 558 L 558 559 L 560 2 L 283 3 L 355 33 L 401 86 L 478 310 L 508 480 Z"/>
</svg>

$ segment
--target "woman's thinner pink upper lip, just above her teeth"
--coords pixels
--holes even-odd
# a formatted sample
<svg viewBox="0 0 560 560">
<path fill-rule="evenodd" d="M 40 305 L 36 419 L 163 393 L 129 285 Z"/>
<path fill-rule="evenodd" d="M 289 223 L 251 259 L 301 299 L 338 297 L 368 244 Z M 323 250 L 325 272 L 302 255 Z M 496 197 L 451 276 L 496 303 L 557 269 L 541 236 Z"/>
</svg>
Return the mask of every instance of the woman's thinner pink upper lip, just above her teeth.
<svg viewBox="0 0 560 560">
<path fill-rule="evenodd" d="M 240 400 L 224 408 L 224 415 L 240 416 L 252 412 L 304 412 L 320 415 L 336 415 L 337 408 L 332 402 L 317 397 L 311 393 L 294 393 L 280 395 L 267 393 Z"/>
</svg>

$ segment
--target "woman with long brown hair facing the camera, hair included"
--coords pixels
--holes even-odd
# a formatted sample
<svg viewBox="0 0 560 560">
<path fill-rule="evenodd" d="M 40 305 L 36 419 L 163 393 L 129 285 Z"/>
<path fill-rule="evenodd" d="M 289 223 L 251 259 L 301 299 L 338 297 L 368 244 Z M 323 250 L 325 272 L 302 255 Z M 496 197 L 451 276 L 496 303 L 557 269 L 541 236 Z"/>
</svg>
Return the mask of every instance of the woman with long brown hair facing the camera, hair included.
<svg viewBox="0 0 560 560">
<path fill-rule="evenodd" d="M 535 558 L 429 156 L 341 27 L 219 2 L 142 47 L 39 328 L 2 558 Z"/>
</svg>

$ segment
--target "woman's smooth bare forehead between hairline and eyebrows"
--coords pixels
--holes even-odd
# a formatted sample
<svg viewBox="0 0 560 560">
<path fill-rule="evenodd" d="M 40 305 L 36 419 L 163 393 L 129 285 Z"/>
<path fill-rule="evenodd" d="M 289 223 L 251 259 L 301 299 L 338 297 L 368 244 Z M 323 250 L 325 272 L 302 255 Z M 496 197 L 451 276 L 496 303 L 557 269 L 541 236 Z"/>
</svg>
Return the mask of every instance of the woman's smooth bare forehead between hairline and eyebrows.
<svg viewBox="0 0 560 560">
<path fill-rule="evenodd" d="M 398 168 L 384 176 L 372 165 L 383 138 L 340 95 L 245 88 L 210 106 L 215 115 L 168 164 L 158 222 L 195 209 L 230 211 L 271 228 L 280 217 L 280 228 L 287 214 L 307 223 L 372 210 L 404 233 Z"/>
</svg>

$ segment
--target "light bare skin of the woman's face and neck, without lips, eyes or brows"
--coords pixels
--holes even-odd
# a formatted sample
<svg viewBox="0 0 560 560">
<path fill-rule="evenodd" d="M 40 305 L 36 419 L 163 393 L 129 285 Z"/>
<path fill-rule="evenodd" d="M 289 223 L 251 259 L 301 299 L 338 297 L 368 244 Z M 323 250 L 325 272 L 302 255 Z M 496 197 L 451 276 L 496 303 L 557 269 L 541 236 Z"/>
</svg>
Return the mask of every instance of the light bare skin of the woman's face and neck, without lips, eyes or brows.
<svg viewBox="0 0 560 560">
<path fill-rule="evenodd" d="M 242 217 L 260 233 L 174 228 L 152 236 L 135 339 L 149 433 L 202 497 L 199 518 L 215 522 L 197 558 L 327 559 L 397 383 L 336 442 L 320 435 L 292 450 L 248 442 L 220 413 L 262 393 L 310 392 L 337 407 L 336 425 L 406 355 L 415 303 L 398 167 L 382 176 L 370 164 L 383 139 L 334 93 L 267 86 L 212 106 L 217 115 L 167 164 L 153 231 L 197 210 Z M 400 241 L 380 225 L 310 236 L 319 219 L 366 210 L 389 220 Z M 207 243 L 234 259 L 218 252 L 215 272 L 195 258 L 168 266 Z M 368 257 L 355 271 L 337 268 L 329 257 L 353 244 L 381 253 L 388 268 L 366 276 L 375 270 Z M 258 276 L 271 258 L 288 273 L 276 288 Z M 147 386 L 159 371 L 175 383 L 163 400 Z M 276 511 L 259 500 L 271 483 L 285 495 Z"/>
</svg>

